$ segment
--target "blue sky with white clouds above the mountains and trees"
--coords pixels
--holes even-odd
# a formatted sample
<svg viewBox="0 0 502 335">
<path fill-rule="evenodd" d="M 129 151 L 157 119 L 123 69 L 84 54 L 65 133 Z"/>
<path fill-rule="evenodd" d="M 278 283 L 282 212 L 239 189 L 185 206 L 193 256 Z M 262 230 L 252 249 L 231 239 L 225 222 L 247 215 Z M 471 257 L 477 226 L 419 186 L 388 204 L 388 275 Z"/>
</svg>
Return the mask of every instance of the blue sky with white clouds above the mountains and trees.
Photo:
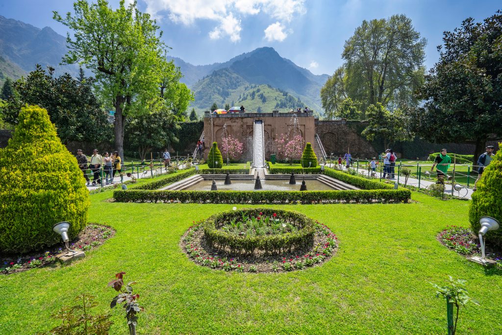
<svg viewBox="0 0 502 335">
<path fill-rule="evenodd" d="M 132 1 L 132 0 L 127 0 Z M 117 6 L 118 0 L 110 0 Z M 437 60 L 442 32 L 462 20 L 476 21 L 502 9 L 502 2 L 430 0 L 139 0 L 138 7 L 157 18 L 169 54 L 192 64 L 223 62 L 270 46 L 315 74 L 332 74 L 342 64 L 343 44 L 362 20 L 405 14 L 428 41 L 426 66 Z M 72 10 L 70 0 L 0 0 L 0 15 L 33 26 L 66 27 L 52 11 Z"/>
</svg>

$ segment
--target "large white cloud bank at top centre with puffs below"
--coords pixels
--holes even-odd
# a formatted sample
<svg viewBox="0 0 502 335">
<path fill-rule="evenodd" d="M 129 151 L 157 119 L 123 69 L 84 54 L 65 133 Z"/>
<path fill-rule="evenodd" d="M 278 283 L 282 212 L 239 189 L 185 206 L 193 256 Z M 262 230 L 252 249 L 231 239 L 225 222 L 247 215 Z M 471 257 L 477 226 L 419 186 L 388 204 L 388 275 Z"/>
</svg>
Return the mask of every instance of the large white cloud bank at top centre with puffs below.
<svg viewBox="0 0 502 335">
<path fill-rule="evenodd" d="M 145 0 L 145 3 L 147 13 L 157 20 L 164 20 L 167 16 L 169 20 L 184 25 L 192 25 L 197 20 L 218 22 L 219 26 L 209 32 L 209 38 L 228 36 L 232 42 L 240 40 L 240 19 L 244 16 L 263 13 L 284 24 L 291 22 L 295 15 L 306 12 L 305 0 Z M 274 40 L 282 41 L 287 34 L 284 26 L 277 25 L 272 24 L 267 30 L 275 29 L 271 32 L 277 37 Z"/>
</svg>

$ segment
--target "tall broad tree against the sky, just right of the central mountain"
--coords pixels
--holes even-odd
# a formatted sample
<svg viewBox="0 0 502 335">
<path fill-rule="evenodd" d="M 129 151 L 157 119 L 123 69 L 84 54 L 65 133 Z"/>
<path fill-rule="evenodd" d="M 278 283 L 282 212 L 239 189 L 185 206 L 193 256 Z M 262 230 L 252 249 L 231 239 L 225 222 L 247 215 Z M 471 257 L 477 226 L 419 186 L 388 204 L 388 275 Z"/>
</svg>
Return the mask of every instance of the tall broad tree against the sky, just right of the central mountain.
<svg viewBox="0 0 502 335">
<path fill-rule="evenodd" d="M 413 91 L 423 83 L 426 40 L 405 15 L 364 20 L 345 42 L 338 68 L 321 90 L 321 101 L 332 116 L 347 97 L 394 109 L 418 103 Z"/>
</svg>

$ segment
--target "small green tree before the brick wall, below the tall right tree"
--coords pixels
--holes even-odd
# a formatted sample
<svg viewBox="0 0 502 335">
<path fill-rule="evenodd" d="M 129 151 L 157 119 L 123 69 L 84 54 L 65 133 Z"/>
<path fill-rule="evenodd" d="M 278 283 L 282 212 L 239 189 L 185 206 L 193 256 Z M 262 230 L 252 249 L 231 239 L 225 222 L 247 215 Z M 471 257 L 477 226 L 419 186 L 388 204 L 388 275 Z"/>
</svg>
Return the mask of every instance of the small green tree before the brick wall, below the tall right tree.
<svg viewBox="0 0 502 335">
<path fill-rule="evenodd" d="M 382 139 L 387 149 L 396 141 L 408 141 L 412 136 L 406 132 L 401 110 L 393 112 L 384 107 L 380 102 L 372 104 L 366 110 L 368 126 L 361 135 L 369 141 Z"/>
</svg>

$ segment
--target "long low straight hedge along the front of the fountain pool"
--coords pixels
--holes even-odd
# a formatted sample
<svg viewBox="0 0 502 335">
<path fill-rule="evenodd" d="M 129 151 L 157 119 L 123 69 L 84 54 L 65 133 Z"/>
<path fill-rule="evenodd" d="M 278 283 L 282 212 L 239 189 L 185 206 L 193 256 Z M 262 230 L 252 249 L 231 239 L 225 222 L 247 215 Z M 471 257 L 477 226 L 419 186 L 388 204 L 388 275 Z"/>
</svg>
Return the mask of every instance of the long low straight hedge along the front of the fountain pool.
<svg viewBox="0 0 502 335">
<path fill-rule="evenodd" d="M 182 203 L 399 203 L 408 202 L 411 191 L 406 188 L 333 191 L 147 191 L 116 190 L 118 202 L 182 202 Z"/>
</svg>

